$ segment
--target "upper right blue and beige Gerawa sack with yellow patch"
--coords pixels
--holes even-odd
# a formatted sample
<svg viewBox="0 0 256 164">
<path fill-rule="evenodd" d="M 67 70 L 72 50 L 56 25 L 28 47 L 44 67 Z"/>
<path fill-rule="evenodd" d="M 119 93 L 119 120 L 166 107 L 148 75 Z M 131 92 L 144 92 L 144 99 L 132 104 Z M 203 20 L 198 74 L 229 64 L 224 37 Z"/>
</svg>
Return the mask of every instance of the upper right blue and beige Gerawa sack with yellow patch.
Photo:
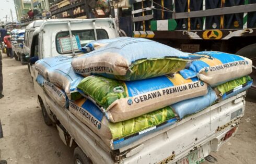
<svg viewBox="0 0 256 164">
<path fill-rule="evenodd" d="M 188 64 L 187 69 L 180 71 L 187 79 L 197 75 L 200 80 L 217 86 L 252 72 L 252 61 L 246 57 L 222 52 L 199 52 L 190 57 L 200 58 Z"/>
</svg>

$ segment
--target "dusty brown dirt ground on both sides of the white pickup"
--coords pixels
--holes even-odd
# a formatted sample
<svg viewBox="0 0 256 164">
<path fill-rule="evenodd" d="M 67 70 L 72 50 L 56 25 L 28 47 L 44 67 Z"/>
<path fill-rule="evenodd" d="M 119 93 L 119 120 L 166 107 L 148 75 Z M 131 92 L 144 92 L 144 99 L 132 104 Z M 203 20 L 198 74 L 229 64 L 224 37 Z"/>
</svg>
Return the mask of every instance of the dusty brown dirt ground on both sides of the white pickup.
<svg viewBox="0 0 256 164">
<path fill-rule="evenodd" d="M 73 153 L 62 143 L 57 130 L 44 124 L 27 66 L 4 54 L 3 74 L 0 159 L 25 164 L 72 163 Z M 256 103 L 247 102 L 238 133 L 212 156 L 218 160 L 215 163 L 256 162 Z"/>
</svg>

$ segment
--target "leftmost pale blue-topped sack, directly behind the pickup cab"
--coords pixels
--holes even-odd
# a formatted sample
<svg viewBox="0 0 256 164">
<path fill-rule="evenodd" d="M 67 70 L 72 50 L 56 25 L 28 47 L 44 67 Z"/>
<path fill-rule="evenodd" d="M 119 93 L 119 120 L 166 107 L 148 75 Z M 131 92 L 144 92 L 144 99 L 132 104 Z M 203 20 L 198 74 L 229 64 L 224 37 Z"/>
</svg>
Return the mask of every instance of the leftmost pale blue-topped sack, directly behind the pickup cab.
<svg viewBox="0 0 256 164">
<path fill-rule="evenodd" d="M 39 74 L 43 75 L 45 79 L 48 79 L 48 74 L 52 69 L 54 69 L 54 67 L 70 63 L 72 59 L 73 58 L 66 56 L 47 57 L 38 60 L 35 63 L 34 68 L 39 72 Z"/>
</svg>

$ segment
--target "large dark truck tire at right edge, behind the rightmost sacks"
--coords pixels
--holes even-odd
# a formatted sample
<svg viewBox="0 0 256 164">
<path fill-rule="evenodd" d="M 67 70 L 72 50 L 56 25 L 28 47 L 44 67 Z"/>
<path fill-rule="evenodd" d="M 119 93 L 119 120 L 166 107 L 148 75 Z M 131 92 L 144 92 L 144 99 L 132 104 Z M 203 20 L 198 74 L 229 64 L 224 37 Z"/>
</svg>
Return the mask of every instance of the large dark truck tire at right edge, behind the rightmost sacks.
<svg viewBox="0 0 256 164">
<path fill-rule="evenodd" d="M 256 43 L 250 44 L 248 46 L 243 47 L 237 53 L 237 55 L 245 56 L 252 60 L 252 65 L 256 67 Z M 249 74 L 253 79 L 252 86 L 249 89 L 248 95 L 251 97 L 256 97 L 256 68 L 252 68 L 252 73 Z"/>
</svg>

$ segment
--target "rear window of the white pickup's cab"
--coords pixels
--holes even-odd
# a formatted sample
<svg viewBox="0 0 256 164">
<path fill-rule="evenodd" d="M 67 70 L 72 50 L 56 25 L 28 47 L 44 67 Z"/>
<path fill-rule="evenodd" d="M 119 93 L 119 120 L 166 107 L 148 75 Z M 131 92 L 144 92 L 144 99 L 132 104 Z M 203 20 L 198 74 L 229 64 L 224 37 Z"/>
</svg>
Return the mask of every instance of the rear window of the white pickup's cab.
<svg viewBox="0 0 256 164">
<path fill-rule="evenodd" d="M 108 33 L 107 31 L 103 30 L 103 29 L 97 29 L 97 39 L 109 39 Z M 76 30 L 76 31 L 72 31 L 72 35 L 79 36 L 79 40 L 80 40 L 80 44 L 81 46 L 85 46 L 87 43 L 94 41 L 95 40 L 95 34 L 94 34 L 94 29 L 91 30 Z M 68 54 L 68 53 L 63 53 L 61 50 L 61 46 L 59 43 L 59 38 L 61 37 L 67 37 L 69 36 L 69 32 L 68 31 L 63 31 L 63 32 L 59 32 L 56 35 L 56 49 L 57 52 L 59 54 Z M 79 52 L 79 51 L 76 51 Z"/>
</svg>

